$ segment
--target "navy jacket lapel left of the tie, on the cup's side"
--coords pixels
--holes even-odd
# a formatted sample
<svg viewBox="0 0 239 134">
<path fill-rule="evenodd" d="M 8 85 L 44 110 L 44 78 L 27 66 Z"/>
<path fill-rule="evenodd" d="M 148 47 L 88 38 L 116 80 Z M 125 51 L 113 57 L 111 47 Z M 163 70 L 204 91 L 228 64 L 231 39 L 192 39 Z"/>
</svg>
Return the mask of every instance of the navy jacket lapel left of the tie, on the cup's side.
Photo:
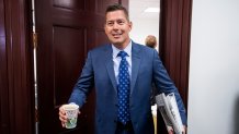
<svg viewBox="0 0 239 134">
<path fill-rule="evenodd" d="M 107 45 L 107 47 L 105 47 L 105 57 L 103 61 L 105 60 L 105 65 L 106 65 L 109 77 L 111 78 L 112 85 L 115 92 L 117 93 L 117 82 L 116 82 L 115 74 L 114 74 L 114 63 L 112 60 L 112 57 L 113 57 L 112 52 L 113 50 L 111 48 L 111 45 Z"/>
</svg>

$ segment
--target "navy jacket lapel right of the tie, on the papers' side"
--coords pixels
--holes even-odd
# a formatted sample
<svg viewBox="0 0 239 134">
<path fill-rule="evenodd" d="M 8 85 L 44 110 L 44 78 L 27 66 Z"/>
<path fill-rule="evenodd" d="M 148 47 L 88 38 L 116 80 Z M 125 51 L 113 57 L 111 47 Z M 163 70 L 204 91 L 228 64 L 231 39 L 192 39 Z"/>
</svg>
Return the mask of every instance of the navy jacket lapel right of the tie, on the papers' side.
<svg viewBox="0 0 239 134">
<path fill-rule="evenodd" d="M 138 70 L 141 62 L 140 48 L 132 41 L 132 82 L 130 82 L 130 94 L 135 87 L 135 83 L 138 76 Z"/>
</svg>

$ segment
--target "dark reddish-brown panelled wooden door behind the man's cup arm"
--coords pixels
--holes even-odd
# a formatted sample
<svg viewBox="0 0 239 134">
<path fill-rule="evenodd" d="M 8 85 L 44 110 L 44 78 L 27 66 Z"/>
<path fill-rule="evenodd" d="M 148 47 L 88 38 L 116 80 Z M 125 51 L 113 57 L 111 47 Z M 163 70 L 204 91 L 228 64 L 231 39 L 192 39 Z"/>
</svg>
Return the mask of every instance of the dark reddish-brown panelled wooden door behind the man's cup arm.
<svg viewBox="0 0 239 134">
<path fill-rule="evenodd" d="M 116 2 L 128 4 L 126 0 L 35 0 L 39 134 L 94 133 L 94 92 L 75 130 L 61 127 L 58 108 L 68 101 L 87 52 L 107 42 L 104 11 Z"/>
</svg>

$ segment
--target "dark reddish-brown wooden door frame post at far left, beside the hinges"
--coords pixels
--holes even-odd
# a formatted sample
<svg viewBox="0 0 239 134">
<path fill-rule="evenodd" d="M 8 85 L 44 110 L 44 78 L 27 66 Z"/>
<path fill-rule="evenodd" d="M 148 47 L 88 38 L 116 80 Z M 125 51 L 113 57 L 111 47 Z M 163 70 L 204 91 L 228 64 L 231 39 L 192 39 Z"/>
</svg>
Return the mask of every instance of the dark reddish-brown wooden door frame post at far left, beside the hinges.
<svg viewBox="0 0 239 134">
<path fill-rule="evenodd" d="M 1 0 L 0 113 L 2 134 L 34 133 L 31 10 L 27 0 Z M 3 13 L 2 13 L 3 12 Z M 3 65 L 3 66 L 2 66 Z"/>
</svg>

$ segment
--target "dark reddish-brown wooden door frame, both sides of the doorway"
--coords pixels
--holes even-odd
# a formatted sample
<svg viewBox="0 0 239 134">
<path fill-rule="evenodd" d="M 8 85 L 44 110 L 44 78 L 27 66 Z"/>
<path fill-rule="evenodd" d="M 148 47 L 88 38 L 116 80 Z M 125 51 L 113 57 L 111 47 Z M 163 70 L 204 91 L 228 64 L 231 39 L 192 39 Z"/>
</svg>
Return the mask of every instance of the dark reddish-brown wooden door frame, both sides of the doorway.
<svg viewBox="0 0 239 134">
<path fill-rule="evenodd" d="M 3 24 L 0 24 L 4 32 L 1 35 L 3 49 L 0 49 L 0 78 L 3 80 L 0 82 L 0 131 L 3 134 L 33 134 L 35 99 L 31 0 L 0 2 L 3 3 L 0 10 L 4 15 Z M 160 56 L 187 108 L 192 0 L 160 2 Z"/>
</svg>

